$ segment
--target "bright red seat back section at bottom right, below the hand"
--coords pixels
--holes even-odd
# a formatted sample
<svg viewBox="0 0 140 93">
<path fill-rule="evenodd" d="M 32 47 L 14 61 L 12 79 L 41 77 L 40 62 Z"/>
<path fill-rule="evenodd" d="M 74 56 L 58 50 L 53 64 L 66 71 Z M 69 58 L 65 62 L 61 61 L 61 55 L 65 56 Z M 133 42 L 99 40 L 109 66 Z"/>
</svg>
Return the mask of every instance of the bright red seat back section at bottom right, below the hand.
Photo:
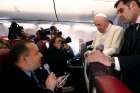
<svg viewBox="0 0 140 93">
<path fill-rule="evenodd" d="M 111 75 L 96 76 L 99 93 L 132 93 L 119 79 Z M 97 92 L 97 93 L 98 93 Z"/>
</svg>

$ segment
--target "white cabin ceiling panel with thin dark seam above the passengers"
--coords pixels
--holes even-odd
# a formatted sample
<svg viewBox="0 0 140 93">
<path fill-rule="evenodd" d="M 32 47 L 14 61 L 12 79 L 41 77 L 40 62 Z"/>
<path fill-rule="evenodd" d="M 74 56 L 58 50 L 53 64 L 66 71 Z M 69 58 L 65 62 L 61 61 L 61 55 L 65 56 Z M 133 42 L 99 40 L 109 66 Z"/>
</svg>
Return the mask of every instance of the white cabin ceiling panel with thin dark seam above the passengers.
<svg viewBox="0 0 140 93">
<path fill-rule="evenodd" d="M 92 22 L 98 12 L 115 14 L 116 0 L 0 0 L 0 18 L 25 21 Z M 54 11 L 54 3 L 56 14 Z"/>
</svg>

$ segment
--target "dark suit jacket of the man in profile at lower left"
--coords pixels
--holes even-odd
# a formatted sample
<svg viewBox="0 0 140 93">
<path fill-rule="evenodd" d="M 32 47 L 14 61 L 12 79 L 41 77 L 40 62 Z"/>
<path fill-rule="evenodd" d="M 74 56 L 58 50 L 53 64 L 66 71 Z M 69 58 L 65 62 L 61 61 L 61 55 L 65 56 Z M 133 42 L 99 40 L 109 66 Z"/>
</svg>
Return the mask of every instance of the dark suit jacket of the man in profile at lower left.
<svg viewBox="0 0 140 93">
<path fill-rule="evenodd" d="M 35 80 L 14 64 L 4 65 L 2 93 L 52 93 L 51 90 L 38 87 Z"/>
</svg>

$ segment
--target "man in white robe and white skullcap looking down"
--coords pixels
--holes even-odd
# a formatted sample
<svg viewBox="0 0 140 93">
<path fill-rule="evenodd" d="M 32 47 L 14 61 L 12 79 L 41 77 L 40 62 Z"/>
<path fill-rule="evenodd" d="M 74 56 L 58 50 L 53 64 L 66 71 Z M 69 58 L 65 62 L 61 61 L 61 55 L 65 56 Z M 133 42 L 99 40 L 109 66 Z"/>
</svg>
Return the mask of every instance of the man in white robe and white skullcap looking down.
<svg viewBox="0 0 140 93">
<path fill-rule="evenodd" d="M 95 16 L 94 21 L 98 31 L 93 49 L 102 50 L 107 56 L 119 54 L 124 37 L 123 28 L 110 24 L 106 15 L 101 13 Z"/>
</svg>

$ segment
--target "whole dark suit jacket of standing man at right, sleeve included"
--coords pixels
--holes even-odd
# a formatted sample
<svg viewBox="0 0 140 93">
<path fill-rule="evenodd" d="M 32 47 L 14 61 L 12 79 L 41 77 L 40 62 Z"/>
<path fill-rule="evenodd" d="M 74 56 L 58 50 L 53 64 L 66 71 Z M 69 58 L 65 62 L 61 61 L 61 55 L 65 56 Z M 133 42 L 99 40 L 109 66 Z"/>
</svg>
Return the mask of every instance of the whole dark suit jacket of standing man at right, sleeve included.
<svg viewBox="0 0 140 93">
<path fill-rule="evenodd" d="M 124 83 L 140 93 L 140 24 L 130 25 L 118 56 Z"/>
</svg>

